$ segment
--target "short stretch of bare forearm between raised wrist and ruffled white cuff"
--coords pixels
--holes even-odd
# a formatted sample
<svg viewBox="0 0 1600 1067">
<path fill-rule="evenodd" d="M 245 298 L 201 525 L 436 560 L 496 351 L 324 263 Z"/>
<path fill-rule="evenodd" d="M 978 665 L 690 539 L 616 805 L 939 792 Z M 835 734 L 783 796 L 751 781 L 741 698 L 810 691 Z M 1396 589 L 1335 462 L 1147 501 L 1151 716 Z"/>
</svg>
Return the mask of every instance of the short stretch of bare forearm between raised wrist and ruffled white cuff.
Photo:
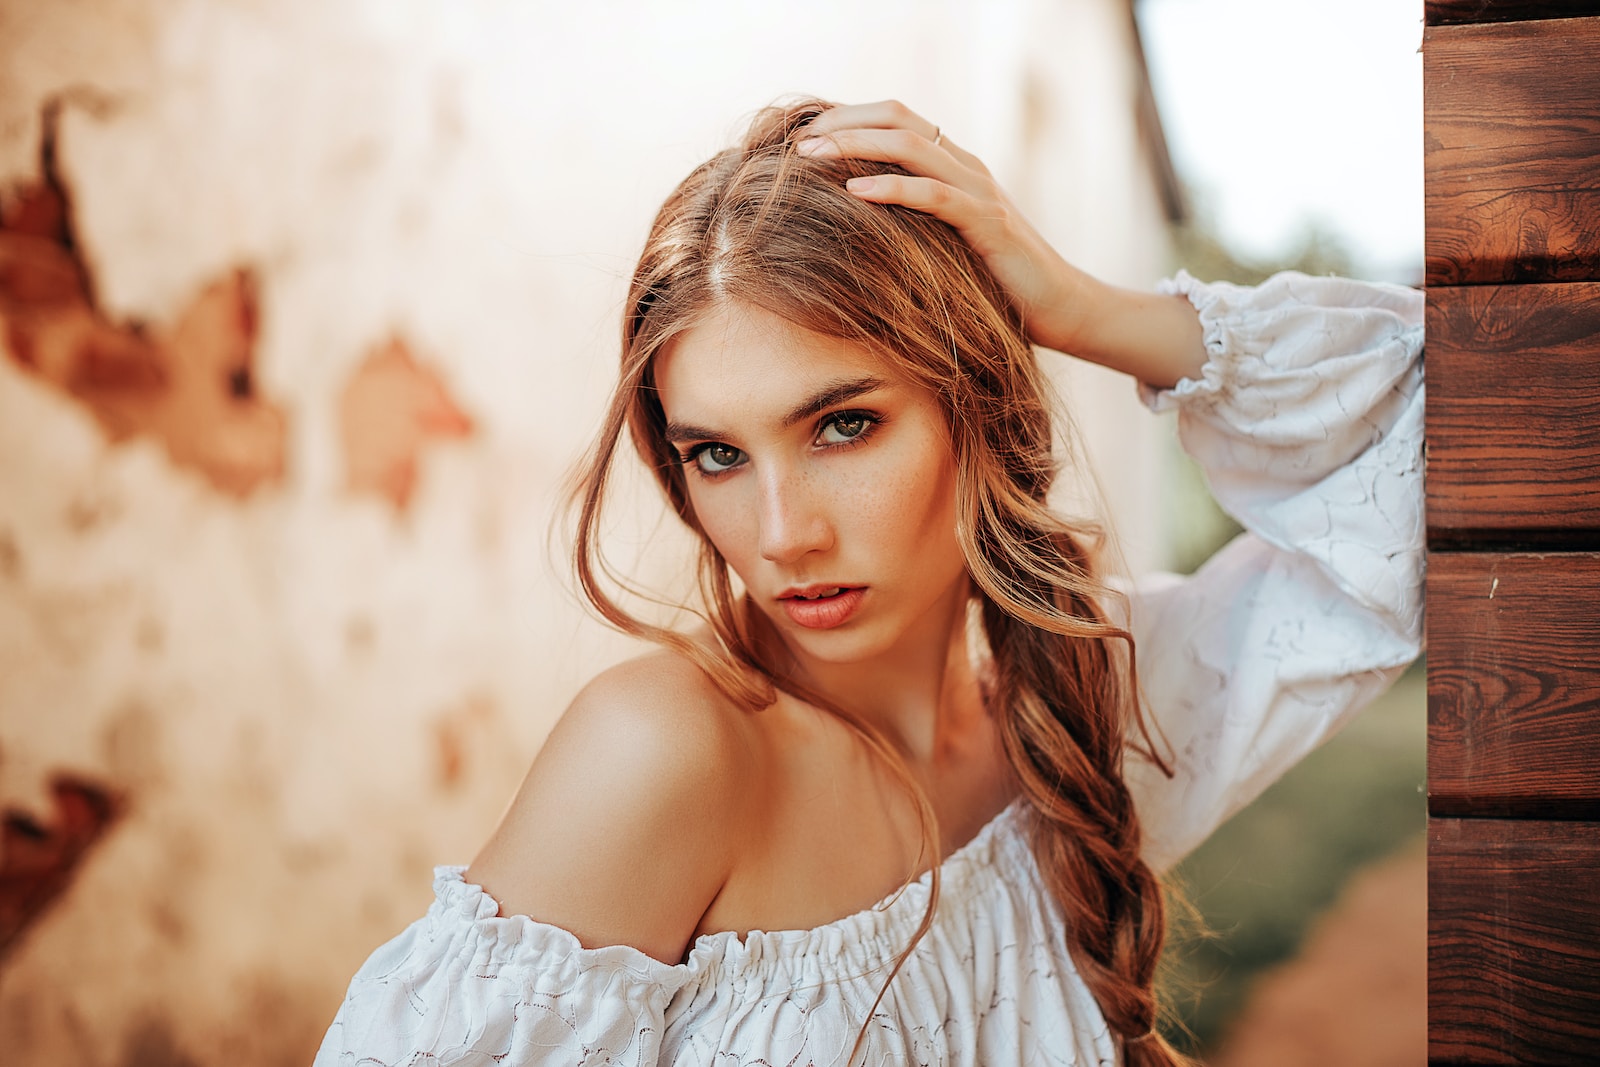
<svg viewBox="0 0 1600 1067">
<path fill-rule="evenodd" d="M 1198 378 L 1205 365 L 1200 317 L 1182 296 L 1139 293 L 1072 270 L 1070 314 L 1038 323 L 1034 339 L 1091 363 L 1166 389 Z"/>
</svg>

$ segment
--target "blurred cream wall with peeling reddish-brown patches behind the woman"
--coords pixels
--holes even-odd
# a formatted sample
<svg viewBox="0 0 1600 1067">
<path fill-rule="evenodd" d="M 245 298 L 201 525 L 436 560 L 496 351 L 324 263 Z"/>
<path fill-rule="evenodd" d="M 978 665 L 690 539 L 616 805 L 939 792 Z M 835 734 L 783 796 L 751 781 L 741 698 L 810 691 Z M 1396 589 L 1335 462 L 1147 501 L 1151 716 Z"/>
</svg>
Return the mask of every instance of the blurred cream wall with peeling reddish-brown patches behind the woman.
<svg viewBox="0 0 1600 1067">
<path fill-rule="evenodd" d="M 629 651 L 558 480 L 653 210 L 757 106 L 899 96 L 1163 270 L 1123 0 L 643 8 L 0 0 L 5 1062 L 306 1062 L 472 857 Z M 1160 432 L 1062 374 L 1158 561 Z"/>
</svg>

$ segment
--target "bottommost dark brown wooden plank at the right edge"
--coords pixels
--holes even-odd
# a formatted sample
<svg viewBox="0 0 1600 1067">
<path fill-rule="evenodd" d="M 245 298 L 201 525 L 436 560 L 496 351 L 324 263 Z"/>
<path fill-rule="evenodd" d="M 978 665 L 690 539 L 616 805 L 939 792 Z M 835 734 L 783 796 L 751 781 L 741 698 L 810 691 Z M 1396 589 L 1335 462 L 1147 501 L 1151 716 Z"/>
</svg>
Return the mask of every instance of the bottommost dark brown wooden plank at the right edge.
<svg viewBox="0 0 1600 1067">
<path fill-rule="evenodd" d="M 1600 1049 L 1600 824 L 1430 819 L 1430 1062 Z"/>
</svg>

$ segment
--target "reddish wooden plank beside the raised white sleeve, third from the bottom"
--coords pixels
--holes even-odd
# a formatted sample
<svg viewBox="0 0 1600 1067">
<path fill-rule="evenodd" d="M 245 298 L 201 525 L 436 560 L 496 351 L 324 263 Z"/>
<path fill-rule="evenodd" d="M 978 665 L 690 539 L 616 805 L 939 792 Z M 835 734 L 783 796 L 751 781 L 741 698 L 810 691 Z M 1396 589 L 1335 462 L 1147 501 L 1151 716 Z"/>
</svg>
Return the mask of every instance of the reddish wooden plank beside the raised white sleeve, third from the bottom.
<svg viewBox="0 0 1600 1067">
<path fill-rule="evenodd" d="M 1600 531 L 1600 283 L 1427 293 L 1427 523 Z"/>
</svg>

